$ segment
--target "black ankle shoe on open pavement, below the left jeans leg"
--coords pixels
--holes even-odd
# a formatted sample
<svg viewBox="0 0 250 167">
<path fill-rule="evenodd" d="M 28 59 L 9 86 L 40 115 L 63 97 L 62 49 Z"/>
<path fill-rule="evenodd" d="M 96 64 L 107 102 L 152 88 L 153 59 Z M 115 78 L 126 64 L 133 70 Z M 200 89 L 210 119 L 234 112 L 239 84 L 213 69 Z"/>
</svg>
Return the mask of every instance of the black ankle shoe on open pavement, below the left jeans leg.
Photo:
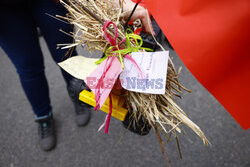
<svg viewBox="0 0 250 167">
<path fill-rule="evenodd" d="M 44 151 L 50 151 L 56 146 L 55 123 L 52 114 L 37 118 L 39 144 Z"/>
</svg>

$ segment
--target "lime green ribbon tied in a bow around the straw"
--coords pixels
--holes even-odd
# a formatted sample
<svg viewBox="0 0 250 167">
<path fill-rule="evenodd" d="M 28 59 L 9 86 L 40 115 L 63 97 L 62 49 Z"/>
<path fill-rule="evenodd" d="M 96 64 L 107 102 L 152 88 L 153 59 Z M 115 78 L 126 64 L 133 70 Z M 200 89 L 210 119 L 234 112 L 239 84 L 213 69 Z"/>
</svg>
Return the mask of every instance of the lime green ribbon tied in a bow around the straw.
<svg viewBox="0 0 250 167">
<path fill-rule="evenodd" d="M 131 47 L 130 44 L 130 40 L 134 40 L 136 46 Z M 127 29 L 126 30 L 126 44 L 127 44 L 127 48 L 126 49 L 119 49 L 119 46 L 110 46 L 106 52 L 105 52 L 105 56 L 103 58 L 101 58 L 100 60 L 98 60 L 97 62 L 95 62 L 95 64 L 100 64 L 102 63 L 107 57 L 109 56 L 117 56 L 119 57 L 119 60 L 121 62 L 122 68 L 124 68 L 124 64 L 123 64 L 123 55 L 132 53 L 132 52 L 138 52 L 139 50 L 146 50 L 146 51 L 153 51 L 153 49 L 150 48 L 145 48 L 145 47 L 141 47 L 143 44 L 142 38 L 140 35 L 136 35 L 134 34 L 134 32 L 131 29 Z M 111 51 L 115 49 L 114 51 Z M 130 55 L 131 56 L 131 55 Z"/>
</svg>

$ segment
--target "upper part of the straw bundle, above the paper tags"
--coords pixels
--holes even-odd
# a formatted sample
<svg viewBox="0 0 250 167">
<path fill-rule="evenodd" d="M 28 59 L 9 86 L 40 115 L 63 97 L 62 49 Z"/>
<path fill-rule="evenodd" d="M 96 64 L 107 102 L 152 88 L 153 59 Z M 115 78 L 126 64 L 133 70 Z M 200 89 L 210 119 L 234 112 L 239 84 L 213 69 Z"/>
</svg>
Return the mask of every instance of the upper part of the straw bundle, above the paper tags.
<svg viewBox="0 0 250 167">
<path fill-rule="evenodd" d="M 121 9 L 114 6 L 113 0 L 68 0 L 68 3 L 61 0 L 60 2 L 69 11 L 69 14 L 67 17 L 57 17 L 66 19 L 77 27 L 76 32 L 70 32 L 68 34 L 74 37 L 75 44 L 67 47 L 87 45 L 89 50 L 100 50 L 104 53 L 110 46 L 104 39 L 102 31 L 103 24 L 107 20 L 110 20 L 117 25 L 119 35 L 118 43 L 125 38 L 124 28 L 122 24 L 120 24 L 120 17 L 124 15 L 124 13 L 122 14 Z M 98 19 L 89 15 L 84 8 L 87 8 L 87 10 L 94 13 Z M 119 15 L 117 13 L 119 13 Z M 113 34 L 112 27 L 110 27 L 108 31 L 110 34 Z M 121 47 L 126 46 L 125 44 L 122 44 Z"/>
</svg>

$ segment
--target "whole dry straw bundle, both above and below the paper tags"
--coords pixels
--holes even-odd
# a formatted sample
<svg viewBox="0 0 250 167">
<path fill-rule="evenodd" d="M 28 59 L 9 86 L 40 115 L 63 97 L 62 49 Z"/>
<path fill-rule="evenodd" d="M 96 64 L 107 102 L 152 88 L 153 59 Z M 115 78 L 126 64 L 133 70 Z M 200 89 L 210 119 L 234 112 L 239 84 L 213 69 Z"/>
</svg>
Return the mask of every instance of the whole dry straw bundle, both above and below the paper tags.
<svg viewBox="0 0 250 167">
<path fill-rule="evenodd" d="M 116 23 L 118 27 L 118 42 L 125 37 L 124 13 L 121 8 L 114 6 L 113 0 L 68 0 L 68 3 L 61 1 L 67 8 L 69 14 L 67 17 L 57 16 L 66 19 L 68 22 L 77 27 L 76 32 L 71 32 L 69 35 L 74 37 L 75 43 L 68 44 L 68 48 L 76 45 L 87 45 L 90 50 L 100 50 L 103 53 L 110 46 L 104 39 L 102 33 L 103 23 L 111 20 Z M 121 6 L 123 5 L 123 2 Z M 97 16 L 91 16 L 87 10 Z M 112 34 L 112 27 L 109 27 L 109 32 Z M 131 45 L 133 41 L 131 41 Z M 126 47 L 126 46 L 123 46 Z M 142 50 L 143 51 L 143 50 Z M 184 111 L 174 102 L 174 97 L 180 97 L 182 91 L 188 91 L 178 81 L 178 76 L 181 70 L 176 72 L 175 67 L 169 58 L 166 92 L 164 95 L 144 94 L 132 91 L 127 91 L 125 94 L 126 101 L 133 111 L 134 120 L 143 116 L 147 122 L 154 128 L 160 143 L 162 139 L 159 135 L 159 130 L 163 132 L 168 138 L 173 134 L 178 144 L 177 133 L 181 133 L 181 125 L 185 124 L 190 127 L 203 141 L 205 145 L 209 141 L 201 131 L 201 129 L 193 123 Z M 178 144 L 179 148 L 179 144 Z M 164 149 L 162 150 L 164 152 Z"/>
</svg>

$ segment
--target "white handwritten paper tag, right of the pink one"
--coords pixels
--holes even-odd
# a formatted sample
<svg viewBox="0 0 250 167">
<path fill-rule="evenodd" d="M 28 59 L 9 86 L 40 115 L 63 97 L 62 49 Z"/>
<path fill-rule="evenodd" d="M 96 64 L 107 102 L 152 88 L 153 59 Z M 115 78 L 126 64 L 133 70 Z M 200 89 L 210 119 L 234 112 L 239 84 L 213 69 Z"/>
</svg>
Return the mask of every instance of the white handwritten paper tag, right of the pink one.
<svg viewBox="0 0 250 167">
<path fill-rule="evenodd" d="M 141 93 L 165 94 L 169 51 L 133 52 L 131 56 L 141 69 L 143 78 L 137 66 L 125 58 L 120 75 L 122 87 Z"/>
</svg>

